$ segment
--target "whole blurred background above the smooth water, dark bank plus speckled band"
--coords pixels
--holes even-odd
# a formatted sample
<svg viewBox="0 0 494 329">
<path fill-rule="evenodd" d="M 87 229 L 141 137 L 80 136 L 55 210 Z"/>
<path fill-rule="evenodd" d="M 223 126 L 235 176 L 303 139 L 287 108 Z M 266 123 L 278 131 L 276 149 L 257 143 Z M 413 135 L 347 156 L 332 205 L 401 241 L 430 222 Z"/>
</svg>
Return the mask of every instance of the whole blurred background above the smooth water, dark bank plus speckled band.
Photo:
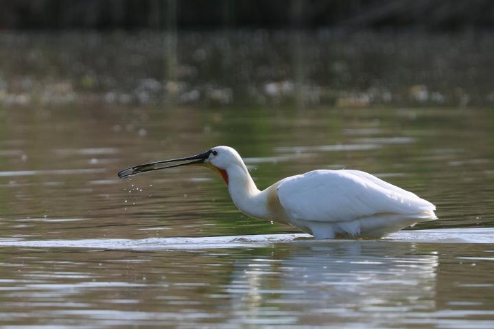
<svg viewBox="0 0 494 329">
<path fill-rule="evenodd" d="M 492 1 L 0 5 L 0 104 L 494 104 Z"/>
</svg>

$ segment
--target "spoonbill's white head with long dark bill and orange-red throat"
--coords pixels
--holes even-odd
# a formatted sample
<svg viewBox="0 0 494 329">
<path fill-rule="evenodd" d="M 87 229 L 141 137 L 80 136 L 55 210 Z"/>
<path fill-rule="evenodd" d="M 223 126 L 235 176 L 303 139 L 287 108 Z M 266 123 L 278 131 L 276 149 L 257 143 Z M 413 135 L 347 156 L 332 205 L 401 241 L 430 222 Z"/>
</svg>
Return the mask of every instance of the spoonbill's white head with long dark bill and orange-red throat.
<svg viewBox="0 0 494 329">
<path fill-rule="evenodd" d="M 169 163 L 173 162 L 180 163 L 169 165 Z M 197 165 L 213 169 L 215 172 L 220 174 L 225 183 L 228 184 L 228 168 L 237 165 L 242 166 L 242 163 L 242 158 L 233 148 L 228 146 L 216 146 L 214 148 L 211 148 L 210 150 L 207 150 L 206 152 L 202 152 L 191 157 L 157 161 L 130 167 L 121 170 L 118 175 L 120 178 L 126 178 L 134 176 L 135 174 L 142 174 L 144 172 L 150 172 L 154 170 L 174 168 L 179 166 Z"/>
</svg>

